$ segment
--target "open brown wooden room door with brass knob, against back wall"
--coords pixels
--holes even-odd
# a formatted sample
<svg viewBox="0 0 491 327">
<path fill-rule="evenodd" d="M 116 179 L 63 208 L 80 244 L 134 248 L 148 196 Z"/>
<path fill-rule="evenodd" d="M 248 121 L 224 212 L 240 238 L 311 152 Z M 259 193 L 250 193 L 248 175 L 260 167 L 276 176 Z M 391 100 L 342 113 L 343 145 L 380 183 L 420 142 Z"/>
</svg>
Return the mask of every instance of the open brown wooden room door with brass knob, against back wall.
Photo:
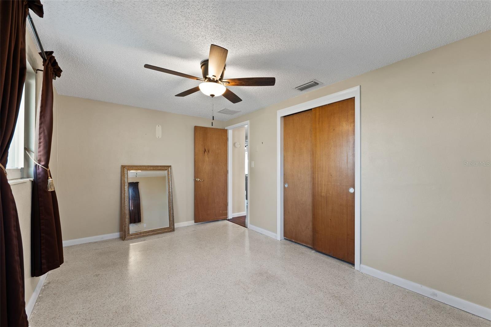
<svg viewBox="0 0 491 327">
<path fill-rule="evenodd" d="M 227 130 L 194 126 L 194 222 L 227 218 Z"/>
</svg>

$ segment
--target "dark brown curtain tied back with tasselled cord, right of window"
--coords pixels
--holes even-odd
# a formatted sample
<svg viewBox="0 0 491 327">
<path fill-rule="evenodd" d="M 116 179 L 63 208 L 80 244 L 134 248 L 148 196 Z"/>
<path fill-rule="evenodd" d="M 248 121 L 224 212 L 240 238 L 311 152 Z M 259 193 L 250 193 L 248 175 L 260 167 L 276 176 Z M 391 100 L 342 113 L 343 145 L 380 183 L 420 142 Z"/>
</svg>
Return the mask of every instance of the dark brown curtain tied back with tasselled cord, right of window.
<svg viewBox="0 0 491 327">
<path fill-rule="evenodd" d="M 53 136 L 53 78 L 61 69 L 53 51 L 45 52 L 41 102 L 36 121 L 37 162 L 34 165 L 31 216 L 31 274 L 41 276 L 63 263 L 60 215 L 55 191 L 48 191 L 48 171 Z M 39 54 L 41 55 L 41 53 Z"/>
</svg>

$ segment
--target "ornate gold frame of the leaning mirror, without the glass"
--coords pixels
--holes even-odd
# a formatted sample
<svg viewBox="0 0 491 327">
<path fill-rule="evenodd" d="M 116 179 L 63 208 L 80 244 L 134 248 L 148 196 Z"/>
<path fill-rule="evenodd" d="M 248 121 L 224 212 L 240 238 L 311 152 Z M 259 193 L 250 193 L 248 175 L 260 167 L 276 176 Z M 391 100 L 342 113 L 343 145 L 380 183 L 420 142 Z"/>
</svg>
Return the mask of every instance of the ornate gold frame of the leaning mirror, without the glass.
<svg viewBox="0 0 491 327">
<path fill-rule="evenodd" d="M 128 171 L 129 170 L 165 170 L 167 171 L 167 190 L 169 199 L 169 227 L 145 230 L 130 234 L 130 208 L 128 199 Z M 129 166 L 121 165 L 121 195 L 123 198 L 123 240 L 132 240 L 139 237 L 162 234 L 174 231 L 174 209 L 172 207 L 172 170 L 171 166 Z"/>
</svg>

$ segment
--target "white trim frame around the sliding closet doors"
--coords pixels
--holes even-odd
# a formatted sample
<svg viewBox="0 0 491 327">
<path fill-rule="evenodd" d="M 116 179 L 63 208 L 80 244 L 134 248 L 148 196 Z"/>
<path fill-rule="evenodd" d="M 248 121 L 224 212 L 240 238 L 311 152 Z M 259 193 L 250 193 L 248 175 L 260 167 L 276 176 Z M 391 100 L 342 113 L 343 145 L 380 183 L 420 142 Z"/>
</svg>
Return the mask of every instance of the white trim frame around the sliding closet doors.
<svg viewBox="0 0 491 327">
<path fill-rule="evenodd" d="M 360 86 L 326 95 L 289 108 L 278 110 L 276 113 L 276 238 L 283 240 L 283 117 L 355 98 L 355 269 L 360 270 L 361 254 L 361 210 L 360 210 Z"/>
</svg>

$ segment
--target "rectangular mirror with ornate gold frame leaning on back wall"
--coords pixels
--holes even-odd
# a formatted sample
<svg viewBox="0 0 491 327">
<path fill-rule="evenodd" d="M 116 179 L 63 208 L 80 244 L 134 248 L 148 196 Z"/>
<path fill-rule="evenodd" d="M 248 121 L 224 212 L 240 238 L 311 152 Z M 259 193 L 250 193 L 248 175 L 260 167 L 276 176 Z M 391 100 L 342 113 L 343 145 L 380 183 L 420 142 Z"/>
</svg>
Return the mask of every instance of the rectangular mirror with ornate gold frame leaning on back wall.
<svg viewBox="0 0 491 327">
<path fill-rule="evenodd" d="M 174 231 L 170 166 L 121 166 L 123 240 Z"/>
</svg>

